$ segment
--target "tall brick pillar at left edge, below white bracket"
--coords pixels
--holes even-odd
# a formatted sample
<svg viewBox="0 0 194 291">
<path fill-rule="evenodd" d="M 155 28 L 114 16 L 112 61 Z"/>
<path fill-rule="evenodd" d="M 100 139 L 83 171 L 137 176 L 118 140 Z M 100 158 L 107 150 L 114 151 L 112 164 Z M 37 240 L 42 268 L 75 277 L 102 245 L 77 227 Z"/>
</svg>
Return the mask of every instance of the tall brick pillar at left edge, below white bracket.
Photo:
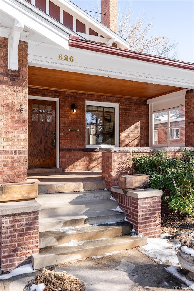
<svg viewBox="0 0 194 291">
<path fill-rule="evenodd" d="M 1 42 L 1 161 L 0 183 L 27 181 L 28 43 L 20 41 L 18 70 L 8 70 L 8 38 Z M 24 113 L 20 113 L 23 104 Z"/>
</svg>

